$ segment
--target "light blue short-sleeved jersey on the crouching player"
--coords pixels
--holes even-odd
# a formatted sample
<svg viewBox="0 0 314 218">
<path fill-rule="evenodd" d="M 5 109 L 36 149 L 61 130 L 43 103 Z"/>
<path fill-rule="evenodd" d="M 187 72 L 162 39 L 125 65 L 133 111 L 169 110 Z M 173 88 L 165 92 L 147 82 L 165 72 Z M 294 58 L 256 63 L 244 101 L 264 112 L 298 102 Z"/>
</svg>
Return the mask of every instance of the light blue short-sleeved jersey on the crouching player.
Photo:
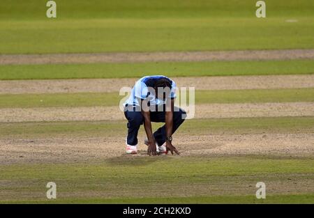
<svg viewBox="0 0 314 218">
<path fill-rule="evenodd" d="M 149 87 L 154 88 L 156 81 L 159 79 L 167 79 L 170 81 L 171 89 L 170 89 L 170 98 L 176 98 L 176 84 L 174 81 L 169 79 L 168 77 L 156 75 L 156 76 L 147 76 L 142 77 L 141 79 L 137 80 L 135 83 L 135 86 L 133 86 L 130 97 L 126 102 L 124 103 L 124 107 L 126 106 L 140 106 L 140 102 L 137 99 L 149 99 L 149 103 L 151 106 L 160 106 L 162 104 L 165 104 L 165 101 L 163 99 L 156 98 L 155 95 L 151 94 L 149 91 Z"/>
</svg>

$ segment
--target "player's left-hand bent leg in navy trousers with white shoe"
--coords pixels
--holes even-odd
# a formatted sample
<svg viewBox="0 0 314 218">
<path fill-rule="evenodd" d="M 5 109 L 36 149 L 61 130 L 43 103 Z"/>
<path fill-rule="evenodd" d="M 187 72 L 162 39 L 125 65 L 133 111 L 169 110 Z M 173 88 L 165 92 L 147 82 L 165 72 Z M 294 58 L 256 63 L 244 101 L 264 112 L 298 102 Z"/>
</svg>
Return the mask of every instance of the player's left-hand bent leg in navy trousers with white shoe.
<svg viewBox="0 0 314 218">
<path fill-rule="evenodd" d="M 144 117 L 140 111 L 125 111 L 128 119 L 128 136 L 126 137 L 126 153 L 137 153 L 137 134 L 143 124 Z"/>
</svg>

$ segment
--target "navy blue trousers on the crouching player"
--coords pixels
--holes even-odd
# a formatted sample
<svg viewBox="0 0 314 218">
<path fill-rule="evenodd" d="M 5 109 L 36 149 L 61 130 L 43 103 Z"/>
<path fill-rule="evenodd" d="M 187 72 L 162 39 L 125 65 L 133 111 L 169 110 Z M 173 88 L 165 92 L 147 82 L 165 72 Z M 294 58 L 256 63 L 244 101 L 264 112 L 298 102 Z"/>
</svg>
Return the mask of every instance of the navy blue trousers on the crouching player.
<svg viewBox="0 0 314 218">
<path fill-rule="evenodd" d="M 151 122 L 156 123 L 165 123 L 165 111 L 151 111 Z M 128 137 L 127 143 L 130 146 L 137 145 L 137 133 L 140 129 L 140 126 L 144 123 L 144 117 L 140 111 L 124 111 L 124 115 L 128 119 Z M 174 133 L 178 127 L 184 123 L 184 119 L 186 118 L 186 111 L 179 109 L 174 109 L 173 112 L 173 127 L 172 133 Z M 158 128 L 156 132 L 154 132 L 155 141 L 159 146 L 163 145 L 166 140 L 166 132 L 165 125 Z"/>
</svg>

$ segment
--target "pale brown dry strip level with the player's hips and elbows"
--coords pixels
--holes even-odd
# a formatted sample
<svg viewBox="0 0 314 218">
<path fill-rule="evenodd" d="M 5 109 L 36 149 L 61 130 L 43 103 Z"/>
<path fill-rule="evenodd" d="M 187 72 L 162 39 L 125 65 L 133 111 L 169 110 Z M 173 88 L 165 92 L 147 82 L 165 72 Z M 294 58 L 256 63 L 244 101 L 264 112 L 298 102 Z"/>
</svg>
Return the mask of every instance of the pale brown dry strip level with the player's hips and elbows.
<svg viewBox="0 0 314 218">
<path fill-rule="evenodd" d="M 184 108 L 193 118 L 193 109 Z M 314 102 L 196 104 L 194 118 L 314 116 Z M 119 107 L 38 107 L 0 109 L 0 122 L 124 120 Z"/>
</svg>

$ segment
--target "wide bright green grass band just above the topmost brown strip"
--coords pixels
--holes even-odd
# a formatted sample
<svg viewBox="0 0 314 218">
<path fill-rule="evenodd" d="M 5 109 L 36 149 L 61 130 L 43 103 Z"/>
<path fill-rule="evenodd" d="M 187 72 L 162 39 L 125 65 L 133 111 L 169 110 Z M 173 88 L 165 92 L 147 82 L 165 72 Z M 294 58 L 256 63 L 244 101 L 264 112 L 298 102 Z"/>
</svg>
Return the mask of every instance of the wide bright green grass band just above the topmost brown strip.
<svg viewBox="0 0 314 218">
<path fill-rule="evenodd" d="M 2 54 L 313 48 L 314 18 L 289 18 L 1 22 L 0 45 Z"/>
</svg>

